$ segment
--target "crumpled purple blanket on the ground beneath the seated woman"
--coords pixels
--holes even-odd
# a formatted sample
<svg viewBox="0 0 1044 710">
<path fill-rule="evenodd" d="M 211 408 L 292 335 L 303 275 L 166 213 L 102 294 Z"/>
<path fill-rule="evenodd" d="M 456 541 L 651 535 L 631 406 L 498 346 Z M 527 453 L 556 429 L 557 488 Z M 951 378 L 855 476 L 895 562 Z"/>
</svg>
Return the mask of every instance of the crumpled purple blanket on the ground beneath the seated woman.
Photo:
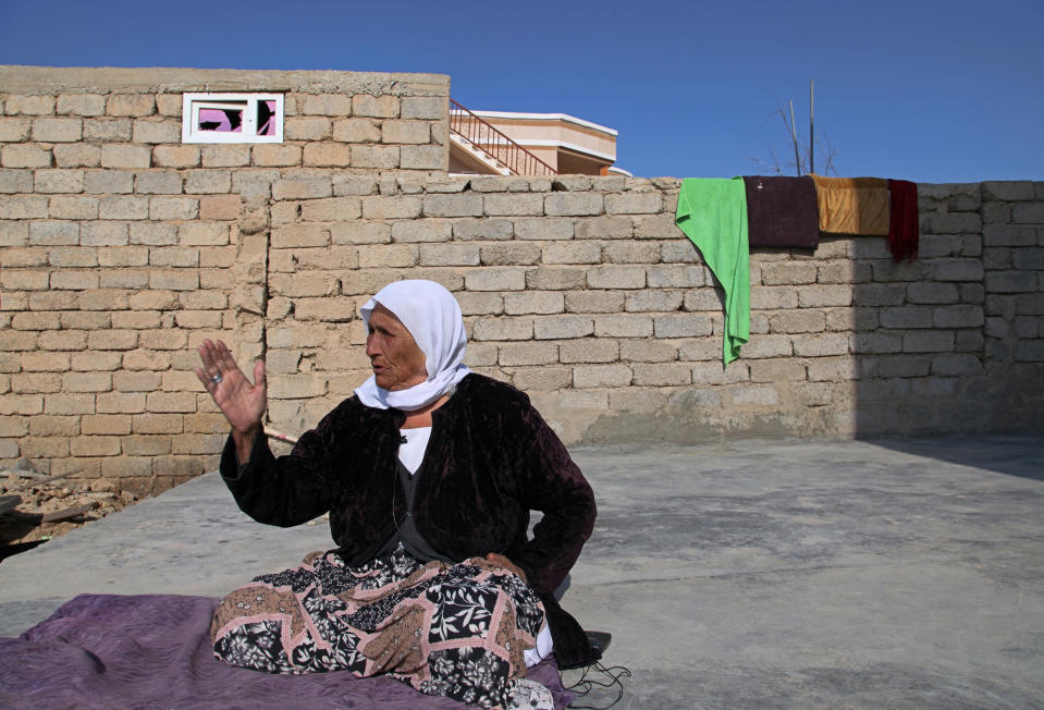
<svg viewBox="0 0 1044 710">
<path fill-rule="evenodd" d="M 390 677 L 349 673 L 268 675 L 217 661 L 209 597 L 81 595 L 19 638 L 0 638 L 3 708 L 391 708 L 455 709 Z M 529 670 L 555 707 L 563 689 L 553 659 Z"/>
</svg>

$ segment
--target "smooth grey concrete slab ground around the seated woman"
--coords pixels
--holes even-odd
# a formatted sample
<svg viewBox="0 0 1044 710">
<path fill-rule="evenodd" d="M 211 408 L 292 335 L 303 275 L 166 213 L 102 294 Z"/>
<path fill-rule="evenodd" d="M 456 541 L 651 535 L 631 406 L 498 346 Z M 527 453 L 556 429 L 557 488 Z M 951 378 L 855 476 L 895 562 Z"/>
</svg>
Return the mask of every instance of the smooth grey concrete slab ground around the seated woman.
<svg viewBox="0 0 1044 710">
<path fill-rule="evenodd" d="M 1044 708 L 1044 438 L 575 457 L 599 518 L 563 604 L 613 633 L 617 708 Z M 209 474 L 0 564 L 0 636 L 76 593 L 220 596 L 327 547 Z"/>
</svg>

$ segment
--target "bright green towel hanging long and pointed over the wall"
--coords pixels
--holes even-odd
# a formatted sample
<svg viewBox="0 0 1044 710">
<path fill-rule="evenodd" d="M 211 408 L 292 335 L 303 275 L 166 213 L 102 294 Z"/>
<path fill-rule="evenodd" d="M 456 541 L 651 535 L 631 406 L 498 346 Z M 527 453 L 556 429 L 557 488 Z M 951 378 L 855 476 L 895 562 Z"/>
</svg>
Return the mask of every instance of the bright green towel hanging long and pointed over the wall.
<svg viewBox="0 0 1044 710">
<path fill-rule="evenodd" d="M 750 339 L 750 246 L 742 178 L 683 180 L 675 223 L 725 290 L 722 359 L 728 365 Z"/>
</svg>

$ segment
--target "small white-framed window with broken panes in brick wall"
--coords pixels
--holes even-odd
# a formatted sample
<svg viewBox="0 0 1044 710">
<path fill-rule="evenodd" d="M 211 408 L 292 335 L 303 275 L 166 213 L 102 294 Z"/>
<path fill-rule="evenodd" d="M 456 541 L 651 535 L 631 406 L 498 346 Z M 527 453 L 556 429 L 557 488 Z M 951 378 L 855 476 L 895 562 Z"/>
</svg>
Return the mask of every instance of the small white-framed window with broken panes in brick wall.
<svg viewBox="0 0 1044 710">
<path fill-rule="evenodd" d="M 185 94 L 182 143 L 282 143 L 281 94 Z"/>
</svg>

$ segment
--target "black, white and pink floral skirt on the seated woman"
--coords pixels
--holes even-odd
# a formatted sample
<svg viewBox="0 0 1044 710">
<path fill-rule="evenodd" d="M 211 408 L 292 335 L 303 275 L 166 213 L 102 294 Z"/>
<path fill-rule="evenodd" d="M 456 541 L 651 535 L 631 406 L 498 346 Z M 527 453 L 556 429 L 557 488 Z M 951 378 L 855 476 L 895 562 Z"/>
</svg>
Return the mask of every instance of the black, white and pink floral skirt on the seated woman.
<svg viewBox="0 0 1044 710">
<path fill-rule="evenodd" d="M 386 673 L 428 695 L 509 707 L 532 685 L 518 682 L 523 651 L 543 615 L 525 582 L 481 558 L 425 564 L 400 547 L 351 567 L 336 552 L 314 552 L 225 597 L 211 639 L 231 665 Z"/>
</svg>

